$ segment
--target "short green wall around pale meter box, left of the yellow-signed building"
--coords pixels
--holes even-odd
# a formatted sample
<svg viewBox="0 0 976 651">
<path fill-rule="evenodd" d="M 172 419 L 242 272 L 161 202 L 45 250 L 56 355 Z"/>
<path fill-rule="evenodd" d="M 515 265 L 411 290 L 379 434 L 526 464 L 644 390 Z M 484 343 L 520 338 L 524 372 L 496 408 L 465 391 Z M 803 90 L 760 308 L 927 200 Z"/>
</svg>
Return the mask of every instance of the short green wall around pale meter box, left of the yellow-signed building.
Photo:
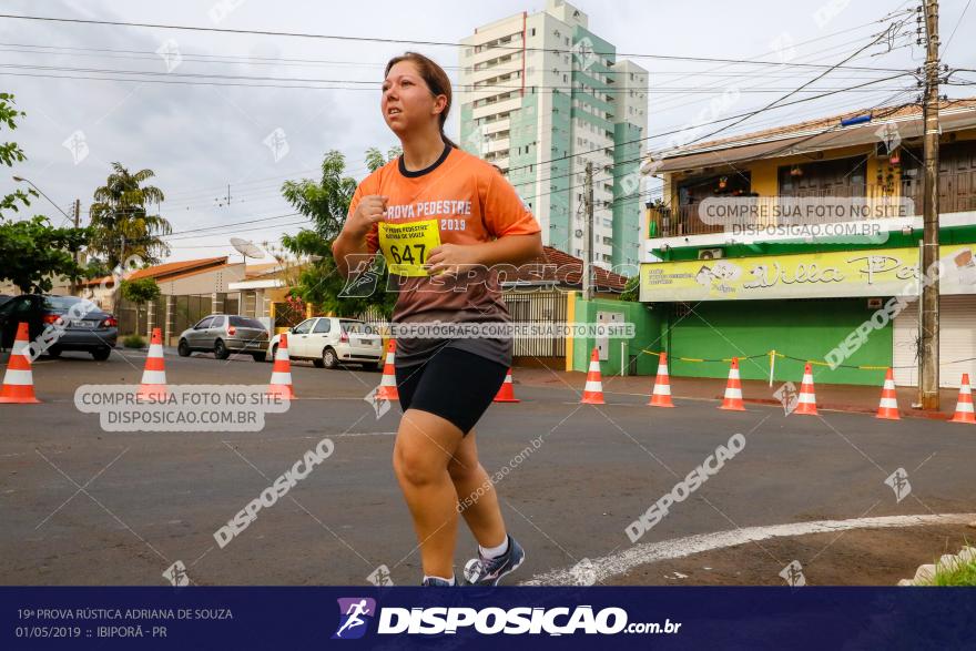
<svg viewBox="0 0 976 651">
<path fill-rule="evenodd" d="M 629 358 L 637 357 L 637 367 L 631 368 L 629 375 L 654 375 L 658 372 L 658 357 L 641 354 L 644 348 L 659 349 L 661 345 L 662 326 L 664 325 L 665 312 L 658 306 L 648 307 L 642 303 L 630 301 L 614 301 L 610 298 L 596 298 L 593 301 L 576 301 L 576 323 L 597 323 L 598 312 L 622 312 L 623 319 L 634 324 L 634 337 L 627 340 L 627 355 Z M 621 348 L 620 343 L 624 339 L 610 339 L 609 359 L 600 363 L 600 373 L 603 375 L 620 375 Z M 572 344 L 573 370 L 586 370 L 590 367 L 590 354 L 597 346 L 592 337 L 577 337 Z"/>
</svg>

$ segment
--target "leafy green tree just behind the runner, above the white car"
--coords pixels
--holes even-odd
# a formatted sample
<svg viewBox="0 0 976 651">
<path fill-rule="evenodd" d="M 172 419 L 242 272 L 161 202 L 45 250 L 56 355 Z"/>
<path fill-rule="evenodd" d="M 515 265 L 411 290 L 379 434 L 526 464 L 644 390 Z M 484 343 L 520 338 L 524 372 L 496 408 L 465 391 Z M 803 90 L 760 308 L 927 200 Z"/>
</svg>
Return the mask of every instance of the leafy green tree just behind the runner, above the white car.
<svg viewBox="0 0 976 651">
<path fill-rule="evenodd" d="M 370 171 L 376 171 L 397 155 L 398 149 L 390 150 L 384 157 L 374 148 L 366 152 L 366 164 Z M 286 181 L 282 185 L 282 194 L 297 212 L 312 221 L 312 227 L 303 228 L 295 235 L 285 235 L 282 246 L 306 262 L 295 288 L 302 299 L 338 316 L 355 316 L 375 307 L 388 318 L 393 314 L 396 294 L 385 291 L 387 273 L 382 257 L 377 256 L 373 263 L 377 282 L 372 295 L 342 295 L 346 282 L 336 269 L 332 243 L 343 230 L 355 192 L 356 180 L 346 175 L 345 156 L 337 151 L 331 151 L 323 157 L 319 181 Z"/>
</svg>

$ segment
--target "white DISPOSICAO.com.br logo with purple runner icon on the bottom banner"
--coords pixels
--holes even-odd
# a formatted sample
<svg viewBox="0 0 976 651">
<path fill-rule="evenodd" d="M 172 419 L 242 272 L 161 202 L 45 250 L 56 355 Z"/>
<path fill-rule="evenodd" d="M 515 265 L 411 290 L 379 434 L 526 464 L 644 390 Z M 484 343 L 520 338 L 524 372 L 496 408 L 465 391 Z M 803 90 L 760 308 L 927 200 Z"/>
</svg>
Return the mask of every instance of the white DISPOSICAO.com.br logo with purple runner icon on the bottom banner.
<svg viewBox="0 0 976 651">
<path fill-rule="evenodd" d="M 362 638 L 369 620 L 376 614 L 376 602 L 367 598 L 339 599 L 339 627 L 333 639 Z M 387 607 L 379 611 L 376 633 L 443 635 L 459 630 L 474 630 L 482 635 L 494 634 L 546 634 L 571 635 L 589 633 L 613 635 L 617 633 L 677 633 L 681 627 L 670 619 L 660 622 L 628 622 L 622 608 L 603 608 L 594 611 L 592 606 L 575 608 L 516 607 L 516 608 L 465 608 Z"/>
</svg>

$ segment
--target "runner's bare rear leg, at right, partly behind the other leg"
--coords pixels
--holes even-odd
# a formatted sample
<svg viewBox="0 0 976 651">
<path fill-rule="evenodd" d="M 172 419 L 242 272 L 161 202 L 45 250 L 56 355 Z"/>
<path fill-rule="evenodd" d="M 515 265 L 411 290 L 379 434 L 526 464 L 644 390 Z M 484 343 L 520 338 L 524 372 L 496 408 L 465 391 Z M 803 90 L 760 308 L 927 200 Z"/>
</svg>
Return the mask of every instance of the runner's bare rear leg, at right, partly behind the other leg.
<svg viewBox="0 0 976 651">
<path fill-rule="evenodd" d="M 498 495 L 488 472 L 478 461 L 474 429 L 458 444 L 447 470 L 457 491 L 461 515 L 478 545 L 498 547 L 505 542 L 505 520 L 498 507 Z"/>
</svg>

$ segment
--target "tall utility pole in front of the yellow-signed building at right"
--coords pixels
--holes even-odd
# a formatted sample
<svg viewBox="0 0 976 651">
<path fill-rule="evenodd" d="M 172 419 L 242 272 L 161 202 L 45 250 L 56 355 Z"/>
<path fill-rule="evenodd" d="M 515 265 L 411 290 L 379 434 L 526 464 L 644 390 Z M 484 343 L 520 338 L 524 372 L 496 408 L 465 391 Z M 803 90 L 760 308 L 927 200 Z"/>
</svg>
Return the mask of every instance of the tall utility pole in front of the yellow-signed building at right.
<svg viewBox="0 0 976 651">
<path fill-rule="evenodd" d="M 922 287 L 922 332 L 918 403 L 923 409 L 938 410 L 938 274 L 929 269 L 938 264 L 938 0 L 923 0 L 925 18 L 925 96 L 922 115 L 924 183 L 922 200 L 921 278 L 934 276 Z"/>
</svg>

